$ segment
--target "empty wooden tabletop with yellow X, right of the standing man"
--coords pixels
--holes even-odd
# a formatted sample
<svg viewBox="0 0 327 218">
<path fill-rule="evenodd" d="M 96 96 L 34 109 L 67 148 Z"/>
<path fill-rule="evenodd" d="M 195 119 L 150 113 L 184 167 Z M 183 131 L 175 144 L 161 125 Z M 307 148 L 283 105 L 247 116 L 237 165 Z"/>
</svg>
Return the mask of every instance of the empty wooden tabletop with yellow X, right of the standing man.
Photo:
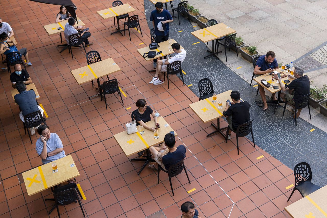
<svg viewBox="0 0 327 218">
<path fill-rule="evenodd" d="M 202 42 L 209 42 L 235 32 L 236 31 L 231 27 L 227 26 L 224 23 L 220 23 L 191 32 L 191 34 L 197 37 Z"/>
</svg>

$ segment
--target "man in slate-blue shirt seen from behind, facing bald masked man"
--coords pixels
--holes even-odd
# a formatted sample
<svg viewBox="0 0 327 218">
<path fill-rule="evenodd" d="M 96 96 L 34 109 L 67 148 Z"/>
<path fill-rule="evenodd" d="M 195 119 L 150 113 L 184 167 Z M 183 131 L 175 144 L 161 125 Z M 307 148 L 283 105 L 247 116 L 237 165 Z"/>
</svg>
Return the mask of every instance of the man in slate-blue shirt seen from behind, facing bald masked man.
<svg viewBox="0 0 327 218">
<path fill-rule="evenodd" d="M 26 85 L 22 81 L 16 82 L 16 89 L 19 94 L 15 94 L 14 99 L 21 109 L 21 112 L 19 113 L 21 120 L 25 123 L 24 116 L 38 110 L 40 110 L 43 116 L 43 109 L 36 102 L 36 94 L 34 90 L 26 91 Z M 30 128 L 31 135 L 35 134 L 35 128 L 38 128 L 38 126 Z"/>
</svg>

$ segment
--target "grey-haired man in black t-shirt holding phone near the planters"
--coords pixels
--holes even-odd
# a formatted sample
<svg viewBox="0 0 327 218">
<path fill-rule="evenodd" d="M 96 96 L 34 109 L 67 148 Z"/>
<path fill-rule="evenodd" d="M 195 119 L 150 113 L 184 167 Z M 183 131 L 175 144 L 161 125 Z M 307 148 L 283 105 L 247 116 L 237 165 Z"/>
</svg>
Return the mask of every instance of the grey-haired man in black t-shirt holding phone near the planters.
<svg viewBox="0 0 327 218">
<path fill-rule="evenodd" d="M 288 85 L 282 82 L 280 78 L 278 78 L 278 82 L 281 86 L 281 89 L 283 91 L 288 91 L 289 93 L 283 93 L 281 92 L 281 98 L 283 100 L 287 100 L 291 105 L 293 106 L 293 111 L 295 111 L 295 102 L 299 100 L 303 95 L 310 93 L 310 80 L 307 75 L 303 75 L 303 69 L 300 67 L 294 68 L 294 76 L 288 75 L 289 78 L 294 79 L 292 82 L 290 82 Z M 302 109 L 299 109 L 296 113 L 296 117 L 300 116 Z M 295 118 L 295 114 L 293 116 Z"/>
</svg>

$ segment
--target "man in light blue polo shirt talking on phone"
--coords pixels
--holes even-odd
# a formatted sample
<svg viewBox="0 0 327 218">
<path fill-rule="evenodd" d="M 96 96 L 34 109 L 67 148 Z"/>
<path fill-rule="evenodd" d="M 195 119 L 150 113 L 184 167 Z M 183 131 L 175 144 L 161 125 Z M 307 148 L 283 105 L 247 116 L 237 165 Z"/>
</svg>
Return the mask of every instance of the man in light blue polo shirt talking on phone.
<svg viewBox="0 0 327 218">
<path fill-rule="evenodd" d="M 57 133 L 50 133 L 49 126 L 39 126 L 38 133 L 40 138 L 36 141 L 36 152 L 43 164 L 66 157 L 59 136 Z"/>
</svg>

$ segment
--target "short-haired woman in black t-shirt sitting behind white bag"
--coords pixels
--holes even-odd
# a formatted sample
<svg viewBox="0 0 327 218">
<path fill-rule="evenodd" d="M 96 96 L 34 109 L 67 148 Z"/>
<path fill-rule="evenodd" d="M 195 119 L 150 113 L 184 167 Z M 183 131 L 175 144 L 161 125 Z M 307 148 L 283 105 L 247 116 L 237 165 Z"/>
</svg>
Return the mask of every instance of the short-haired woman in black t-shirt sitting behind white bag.
<svg viewBox="0 0 327 218">
<path fill-rule="evenodd" d="M 138 108 L 137 110 L 134 111 L 134 117 L 135 120 L 137 121 L 136 126 L 138 125 L 143 125 L 144 128 L 153 131 L 155 128 L 154 127 L 149 127 L 145 123 L 151 120 L 150 115 L 154 119 L 154 123 L 156 126 L 159 125 L 158 123 L 158 117 L 156 117 L 155 112 L 146 105 L 146 101 L 144 99 L 139 99 L 136 102 L 136 107 Z"/>
</svg>

